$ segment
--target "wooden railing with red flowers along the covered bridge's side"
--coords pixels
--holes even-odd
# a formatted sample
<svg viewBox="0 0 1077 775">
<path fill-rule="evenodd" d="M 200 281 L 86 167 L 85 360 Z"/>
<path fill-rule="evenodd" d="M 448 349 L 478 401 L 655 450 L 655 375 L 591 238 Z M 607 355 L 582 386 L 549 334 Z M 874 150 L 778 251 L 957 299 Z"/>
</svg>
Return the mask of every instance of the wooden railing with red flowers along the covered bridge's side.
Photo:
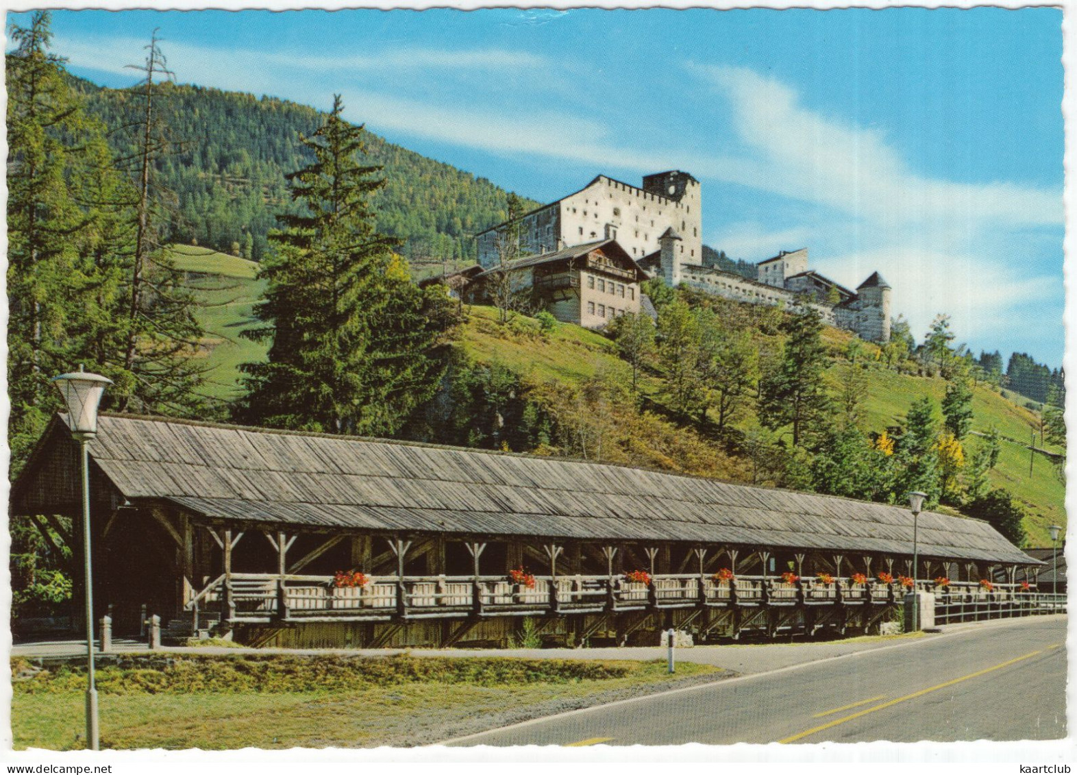
<svg viewBox="0 0 1077 775">
<path fill-rule="evenodd" d="M 389 620 L 435 617 L 589 613 L 689 607 L 894 605 L 905 593 L 896 582 L 851 579 L 785 581 L 781 577 L 738 576 L 718 580 L 698 573 L 656 575 L 649 582 L 624 576 L 533 577 L 533 585 L 504 576 L 370 577 L 363 586 L 337 587 L 331 577 L 232 573 L 220 577 L 193 596 L 188 609 L 221 610 L 222 620 Z M 954 582 L 936 589 L 940 605 L 1021 599 L 1020 585 Z"/>
</svg>

